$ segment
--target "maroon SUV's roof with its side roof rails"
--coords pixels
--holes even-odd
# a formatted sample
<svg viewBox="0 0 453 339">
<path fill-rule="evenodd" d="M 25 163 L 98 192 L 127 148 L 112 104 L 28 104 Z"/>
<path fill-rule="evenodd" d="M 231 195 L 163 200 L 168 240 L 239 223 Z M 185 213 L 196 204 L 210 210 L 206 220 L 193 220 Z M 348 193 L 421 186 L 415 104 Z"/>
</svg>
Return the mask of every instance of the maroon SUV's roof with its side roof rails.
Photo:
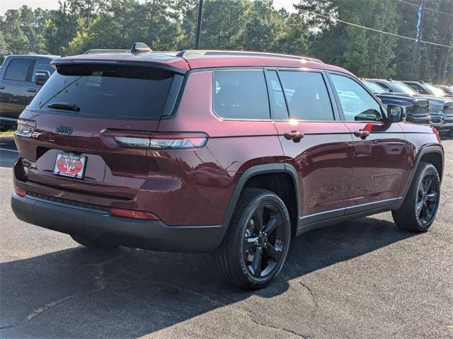
<svg viewBox="0 0 453 339">
<path fill-rule="evenodd" d="M 145 53 L 101 53 L 81 54 L 62 57 L 52 64 L 77 63 L 127 63 L 127 64 L 159 64 L 174 71 L 185 73 L 190 69 L 206 69 L 217 67 L 291 67 L 306 69 L 326 69 L 351 74 L 340 67 L 324 64 L 318 59 L 285 54 L 239 51 L 172 51 Z"/>
</svg>

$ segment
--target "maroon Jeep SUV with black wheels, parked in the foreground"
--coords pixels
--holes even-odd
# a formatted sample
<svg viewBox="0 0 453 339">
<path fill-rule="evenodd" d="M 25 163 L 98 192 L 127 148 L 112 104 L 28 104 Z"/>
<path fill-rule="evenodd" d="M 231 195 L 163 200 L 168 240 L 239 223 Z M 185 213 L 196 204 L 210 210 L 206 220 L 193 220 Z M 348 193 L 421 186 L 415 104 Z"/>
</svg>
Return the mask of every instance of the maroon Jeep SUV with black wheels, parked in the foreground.
<svg viewBox="0 0 453 339">
<path fill-rule="evenodd" d="M 443 149 L 349 71 L 220 51 L 84 54 L 21 114 L 16 216 L 84 246 L 213 252 L 263 287 L 292 237 L 392 211 L 427 231 Z"/>
</svg>

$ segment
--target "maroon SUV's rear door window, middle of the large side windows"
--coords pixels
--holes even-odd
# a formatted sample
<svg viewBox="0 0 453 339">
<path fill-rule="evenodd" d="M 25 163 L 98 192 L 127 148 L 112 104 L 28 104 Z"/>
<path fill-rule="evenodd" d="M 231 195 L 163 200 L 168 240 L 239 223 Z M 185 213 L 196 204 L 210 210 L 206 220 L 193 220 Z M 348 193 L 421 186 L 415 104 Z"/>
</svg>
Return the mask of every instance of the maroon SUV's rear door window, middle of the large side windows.
<svg viewBox="0 0 453 339">
<path fill-rule="evenodd" d="M 321 73 L 280 71 L 289 117 L 296 120 L 334 120 L 331 100 Z"/>
</svg>

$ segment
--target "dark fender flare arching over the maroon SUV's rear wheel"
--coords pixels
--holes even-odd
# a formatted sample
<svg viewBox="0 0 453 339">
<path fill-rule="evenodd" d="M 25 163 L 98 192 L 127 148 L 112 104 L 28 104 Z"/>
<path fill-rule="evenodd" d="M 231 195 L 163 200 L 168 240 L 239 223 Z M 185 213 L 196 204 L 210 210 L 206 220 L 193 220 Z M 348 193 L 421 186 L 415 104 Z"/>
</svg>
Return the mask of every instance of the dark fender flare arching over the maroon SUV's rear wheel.
<svg viewBox="0 0 453 339">
<path fill-rule="evenodd" d="M 228 206 L 226 207 L 226 211 L 224 213 L 224 217 L 222 222 L 229 223 L 231 217 L 233 217 L 234 209 L 236 208 L 236 204 L 239 200 L 239 195 L 243 190 L 244 185 L 246 184 L 247 180 L 252 178 L 253 176 L 258 176 L 260 174 L 268 174 L 268 173 L 287 173 L 289 176 L 292 177 L 292 182 L 294 183 L 294 190 L 296 191 L 296 199 L 297 199 L 297 217 L 299 217 L 300 212 L 300 185 L 299 185 L 299 177 L 297 176 L 296 168 L 287 164 L 287 163 L 266 163 L 264 165 L 253 166 L 248 168 L 241 174 L 236 186 L 231 194 Z"/>
</svg>

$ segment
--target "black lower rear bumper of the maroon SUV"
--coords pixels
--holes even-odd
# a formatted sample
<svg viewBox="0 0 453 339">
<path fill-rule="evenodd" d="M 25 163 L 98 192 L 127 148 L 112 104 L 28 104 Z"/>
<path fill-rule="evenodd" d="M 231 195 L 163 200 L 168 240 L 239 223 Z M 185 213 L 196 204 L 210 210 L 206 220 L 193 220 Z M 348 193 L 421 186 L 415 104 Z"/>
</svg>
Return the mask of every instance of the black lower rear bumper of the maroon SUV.
<svg viewBox="0 0 453 339">
<path fill-rule="evenodd" d="M 11 207 L 18 219 L 36 226 L 120 246 L 169 252 L 212 252 L 224 238 L 227 224 L 167 226 L 161 221 L 114 217 L 105 210 L 51 202 L 13 193 Z"/>
</svg>

